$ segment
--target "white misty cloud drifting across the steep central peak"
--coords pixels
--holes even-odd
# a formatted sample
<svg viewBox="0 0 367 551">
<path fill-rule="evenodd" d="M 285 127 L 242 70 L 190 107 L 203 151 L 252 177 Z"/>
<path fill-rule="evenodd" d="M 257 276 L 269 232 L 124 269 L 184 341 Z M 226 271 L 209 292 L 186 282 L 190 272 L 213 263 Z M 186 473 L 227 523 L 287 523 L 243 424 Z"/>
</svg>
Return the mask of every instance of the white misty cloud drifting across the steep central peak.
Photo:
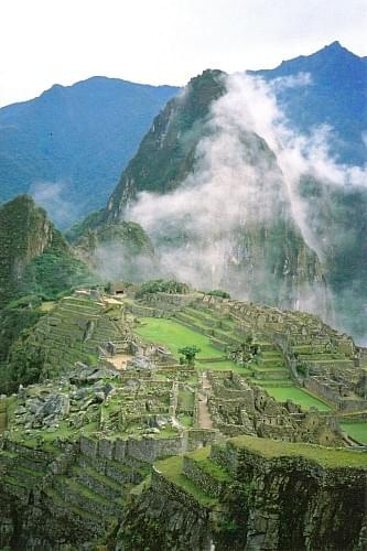
<svg viewBox="0 0 367 551">
<path fill-rule="evenodd" d="M 299 75 L 274 86 L 310 84 L 307 75 Z M 244 256 L 246 260 L 248 246 L 236 236 L 259 225 L 270 228 L 277 219 L 290 217 L 324 261 L 337 239 L 327 228 L 320 231 L 325 220 L 301 193 L 302 179 L 306 175 L 322 183 L 320 201 L 325 208 L 333 190 L 367 190 L 367 180 L 366 169 L 341 165 L 332 158 L 331 126 L 314 128 L 307 137 L 295 133 L 277 104 L 273 86 L 236 74 L 226 77 L 226 88 L 212 105 L 192 174 L 170 194 L 141 193 L 126 218 L 141 224 L 152 237 L 169 273 L 198 288 L 227 287 L 246 299 L 246 278 L 242 285 L 230 288 L 228 267 L 239 264 Z M 339 237 L 341 242 L 349 239 Z M 252 261 L 250 257 L 248 261 Z M 284 266 L 284 274 L 287 269 Z M 260 272 L 253 272 L 256 280 L 265 290 L 270 284 Z M 301 293 L 295 307 L 325 313 L 316 289 Z M 338 300 L 345 303 L 343 296 Z"/>
</svg>

